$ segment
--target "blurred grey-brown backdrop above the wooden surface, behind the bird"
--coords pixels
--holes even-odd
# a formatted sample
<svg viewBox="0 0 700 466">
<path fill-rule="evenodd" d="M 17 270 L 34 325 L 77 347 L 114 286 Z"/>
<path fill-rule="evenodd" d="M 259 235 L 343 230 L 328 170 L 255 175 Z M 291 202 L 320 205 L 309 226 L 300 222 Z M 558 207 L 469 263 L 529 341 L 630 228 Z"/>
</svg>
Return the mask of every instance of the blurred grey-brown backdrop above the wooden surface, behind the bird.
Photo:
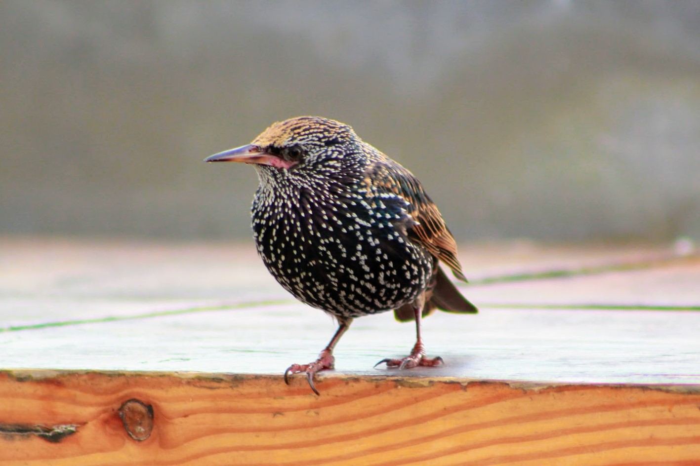
<svg viewBox="0 0 700 466">
<path fill-rule="evenodd" d="M 700 2 L 0 2 L 0 234 L 250 236 L 251 167 L 323 115 L 460 241 L 700 237 Z"/>
</svg>

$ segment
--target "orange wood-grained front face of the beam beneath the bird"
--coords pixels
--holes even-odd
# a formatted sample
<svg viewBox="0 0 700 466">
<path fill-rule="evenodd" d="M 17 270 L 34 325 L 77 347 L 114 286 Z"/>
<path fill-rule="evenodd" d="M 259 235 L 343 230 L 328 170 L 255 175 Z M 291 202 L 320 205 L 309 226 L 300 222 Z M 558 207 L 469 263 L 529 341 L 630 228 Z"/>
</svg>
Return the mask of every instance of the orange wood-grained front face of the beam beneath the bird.
<svg viewBox="0 0 700 466">
<path fill-rule="evenodd" d="M 324 376 L 3 372 L 0 424 L 76 425 L 58 442 L 0 435 L 1 465 L 693 465 L 700 386 L 518 386 Z M 153 407 L 142 442 L 127 400 Z"/>
</svg>

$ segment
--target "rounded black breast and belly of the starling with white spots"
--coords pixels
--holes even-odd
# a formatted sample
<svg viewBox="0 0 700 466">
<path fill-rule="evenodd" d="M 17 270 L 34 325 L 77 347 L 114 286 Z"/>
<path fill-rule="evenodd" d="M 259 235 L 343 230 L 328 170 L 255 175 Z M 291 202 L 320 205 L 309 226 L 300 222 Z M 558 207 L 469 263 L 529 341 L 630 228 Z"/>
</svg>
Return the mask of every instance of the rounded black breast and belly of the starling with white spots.
<svg viewBox="0 0 700 466">
<path fill-rule="evenodd" d="M 302 302 L 357 317 L 412 302 L 426 288 L 433 257 L 376 209 L 279 201 L 253 203 L 255 243 L 272 276 Z"/>
</svg>

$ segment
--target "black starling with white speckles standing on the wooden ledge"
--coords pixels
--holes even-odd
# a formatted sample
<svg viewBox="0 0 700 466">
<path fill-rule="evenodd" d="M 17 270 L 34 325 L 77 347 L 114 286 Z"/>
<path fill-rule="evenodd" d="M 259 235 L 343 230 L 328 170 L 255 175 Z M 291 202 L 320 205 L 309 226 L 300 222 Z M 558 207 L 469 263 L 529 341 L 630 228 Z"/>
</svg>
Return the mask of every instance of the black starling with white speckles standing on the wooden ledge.
<svg viewBox="0 0 700 466">
<path fill-rule="evenodd" d="M 477 313 L 440 268 L 467 281 L 454 236 L 421 182 L 366 143 L 351 126 L 318 116 L 274 122 L 250 144 L 204 159 L 251 164 L 258 189 L 251 207 L 255 245 L 279 284 L 335 317 L 337 330 L 318 358 L 284 372 L 333 369 L 335 345 L 354 318 L 394 311 L 414 320 L 416 344 L 405 358 L 377 367 L 443 364 L 428 358 L 421 318 L 435 309 Z"/>
</svg>

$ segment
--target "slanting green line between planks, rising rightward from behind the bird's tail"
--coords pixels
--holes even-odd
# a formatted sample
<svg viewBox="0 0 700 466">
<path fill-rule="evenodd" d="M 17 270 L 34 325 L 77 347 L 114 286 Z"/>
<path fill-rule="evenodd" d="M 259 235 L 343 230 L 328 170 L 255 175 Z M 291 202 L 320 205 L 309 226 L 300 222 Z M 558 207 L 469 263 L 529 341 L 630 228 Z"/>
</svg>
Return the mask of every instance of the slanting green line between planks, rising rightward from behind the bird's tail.
<svg viewBox="0 0 700 466">
<path fill-rule="evenodd" d="M 688 260 L 699 260 L 700 255 L 683 255 L 663 257 L 657 260 L 647 260 L 644 262 L 623 262 L 618 264 L 606 264 L 596 267 L 581 267 L 580 269 L 553 269 L 540 272 L 510 274 L 501 276 L 491 276 L 470 280 L 471 285 L 491 285 L 493 283 L 510 283 L 517 281 L 546 280 L 548 278 L 568 278 L 572 276 L 605 274 L 613 271 L 631 271 L 651 269 L 676 262 L 686 262 Z"/>
</svg>

